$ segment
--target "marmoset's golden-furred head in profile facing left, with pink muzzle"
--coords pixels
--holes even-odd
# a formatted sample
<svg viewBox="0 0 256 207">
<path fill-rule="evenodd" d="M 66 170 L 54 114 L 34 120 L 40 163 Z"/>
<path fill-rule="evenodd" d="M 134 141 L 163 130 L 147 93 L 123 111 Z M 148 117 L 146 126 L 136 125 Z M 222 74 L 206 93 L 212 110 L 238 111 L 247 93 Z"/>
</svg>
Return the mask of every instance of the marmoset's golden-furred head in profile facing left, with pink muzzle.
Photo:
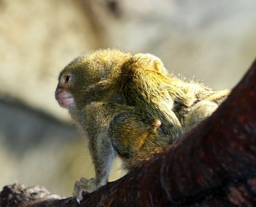
<svg viewBox="0 0 256 207">
<path fill-rule="evenodd" d="M 115 49 L 98 50 L 75 58 L 58 77 L 55 98 L 61 107 L 70 109 L 83 91 L 116 76 L 131 54 Z M 82 93 L 82 94 L 81 94 Z M 85 97 L 88 98 L 88 97 Z"/>
</svg>

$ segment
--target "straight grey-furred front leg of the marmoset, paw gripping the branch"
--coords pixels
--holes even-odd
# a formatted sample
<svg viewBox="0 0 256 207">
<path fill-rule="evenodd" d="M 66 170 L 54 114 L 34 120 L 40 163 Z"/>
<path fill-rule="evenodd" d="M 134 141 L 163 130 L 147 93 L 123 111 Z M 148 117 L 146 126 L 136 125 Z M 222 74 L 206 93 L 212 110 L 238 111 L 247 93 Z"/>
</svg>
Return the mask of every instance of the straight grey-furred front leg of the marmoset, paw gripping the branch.
<svg viewBox="0 0 256 207">
<path fill-rule="evenodd" d="M 81 178 L 80 181 L 75 182 L 73 196 L 76 197 L 77 202 L 83 199 L 83 191 L 90 193 L 107 184 L 115 155 L 114 147 L 107 133 L 99 133 L 90 137 L 89 147 L 96 177 L 92 179 Z"/>
</svg>

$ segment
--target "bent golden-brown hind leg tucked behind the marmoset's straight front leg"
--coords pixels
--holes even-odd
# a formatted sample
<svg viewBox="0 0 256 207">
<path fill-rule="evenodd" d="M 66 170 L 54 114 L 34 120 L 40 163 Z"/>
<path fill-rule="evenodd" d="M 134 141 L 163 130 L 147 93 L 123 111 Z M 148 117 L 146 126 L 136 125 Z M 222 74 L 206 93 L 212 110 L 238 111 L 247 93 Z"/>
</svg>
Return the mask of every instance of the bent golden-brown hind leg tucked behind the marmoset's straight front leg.
<svg viewBox="0 0 256 207">
<path fill-rule="evenodd" d="M 110 137 L 123 160 L 123 168 L 131 171 L 172 144 L 157 118 L 142 118 L 135 111 L 118 114 L 110 124 Z"/>
</svg>

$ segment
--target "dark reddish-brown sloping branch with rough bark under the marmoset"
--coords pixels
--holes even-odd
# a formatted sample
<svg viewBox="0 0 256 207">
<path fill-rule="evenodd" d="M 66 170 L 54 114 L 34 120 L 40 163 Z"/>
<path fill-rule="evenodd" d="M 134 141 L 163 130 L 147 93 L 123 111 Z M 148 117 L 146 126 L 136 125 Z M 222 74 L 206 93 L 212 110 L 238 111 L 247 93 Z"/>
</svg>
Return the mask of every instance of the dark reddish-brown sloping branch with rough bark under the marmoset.
<svg viewBox="0 0 256 207">
<path fill-rule="evenodd" d="M 218 110 L 81 204 L 14 184 L 0 206 L 256 206 L 256 61 Z"/>
</svg>

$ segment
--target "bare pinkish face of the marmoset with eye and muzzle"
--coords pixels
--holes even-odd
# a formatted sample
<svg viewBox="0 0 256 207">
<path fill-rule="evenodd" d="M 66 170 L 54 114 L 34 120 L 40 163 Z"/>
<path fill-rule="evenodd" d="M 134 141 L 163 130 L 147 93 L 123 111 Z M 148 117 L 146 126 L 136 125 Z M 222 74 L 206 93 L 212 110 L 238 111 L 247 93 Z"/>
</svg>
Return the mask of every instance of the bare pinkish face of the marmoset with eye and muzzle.
<svg viewBox="0 0 256 207">
<path fill-rule="evenodd" d="M 73 107 L 75 104 L 74 98 L 70 92 L 68 92 L 68 87 L 70 87 L 72 76 L 71 74 L 63 74 L 58 82 L 58 87 L 55 91 L 55 98 L 58 104 L 64 108 Z"/>
</svg>

